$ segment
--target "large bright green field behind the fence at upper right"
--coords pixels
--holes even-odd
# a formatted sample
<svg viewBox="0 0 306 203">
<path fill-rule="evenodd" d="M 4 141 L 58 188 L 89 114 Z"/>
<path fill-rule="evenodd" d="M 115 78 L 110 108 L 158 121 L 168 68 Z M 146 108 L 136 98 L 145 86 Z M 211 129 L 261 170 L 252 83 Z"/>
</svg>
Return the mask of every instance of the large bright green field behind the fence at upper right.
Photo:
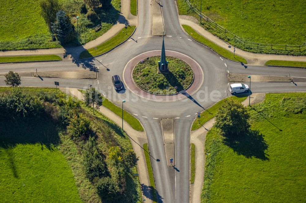
<svg viewBox="0 0 306 203">
<path fill-rule="evenodd" d="M 200 11 L 200 0 L 190 2 Z M 180 15 L 199 18 L 185 0 L 177 0 L 177 6 Z M 245 41 L 283 45 L 306 42 L 303 0 L 202 1 L 202 13 Z"/>
</svg>

